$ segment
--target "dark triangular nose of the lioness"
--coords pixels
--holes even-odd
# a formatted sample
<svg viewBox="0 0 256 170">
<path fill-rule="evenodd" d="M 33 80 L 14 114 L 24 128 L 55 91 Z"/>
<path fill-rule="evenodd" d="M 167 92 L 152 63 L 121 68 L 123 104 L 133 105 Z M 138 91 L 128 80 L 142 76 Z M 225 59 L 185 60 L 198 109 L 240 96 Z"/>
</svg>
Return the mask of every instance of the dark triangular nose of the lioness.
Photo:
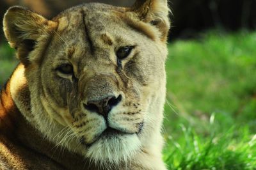
<svg viewBox="0 0 256 170">
<path fill-rule="evenodd" d="M 101 114 L 105 119 L 107 119 L 108 113 L 121 100 L 121 95 L 119 95 L 117 98 L 110 96 L 101 100 L 88 101 L 87 104 L 84 104 L 84 108 L 91 112 L 97 112 L 98 114 Z"/>
</svg>

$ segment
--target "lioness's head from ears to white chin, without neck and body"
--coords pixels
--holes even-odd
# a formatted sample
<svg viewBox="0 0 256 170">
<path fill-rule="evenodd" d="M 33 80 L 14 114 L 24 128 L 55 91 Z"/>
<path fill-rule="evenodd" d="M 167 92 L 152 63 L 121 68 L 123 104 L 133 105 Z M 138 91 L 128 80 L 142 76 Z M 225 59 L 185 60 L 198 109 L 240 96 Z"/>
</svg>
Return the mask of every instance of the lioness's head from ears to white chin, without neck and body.
<svg viewBox="0 0 256 170">
<path fill-rule="evenodd" d="M 150 24 L 153 15 L 141 20 L 141 5 L 149 4 L 134 9 L 85 4 L 52 21 L 21 8 L 9 10 L 12 16 L 29 13 L 41 24 L 27 38 L 13 35 L 4 23 L 25 66 L 35 127 L 54 143 L 111 162 L 132 158 L 152 140 L 157 143 L 169 26 L 165 18 Z"/>
</svg>

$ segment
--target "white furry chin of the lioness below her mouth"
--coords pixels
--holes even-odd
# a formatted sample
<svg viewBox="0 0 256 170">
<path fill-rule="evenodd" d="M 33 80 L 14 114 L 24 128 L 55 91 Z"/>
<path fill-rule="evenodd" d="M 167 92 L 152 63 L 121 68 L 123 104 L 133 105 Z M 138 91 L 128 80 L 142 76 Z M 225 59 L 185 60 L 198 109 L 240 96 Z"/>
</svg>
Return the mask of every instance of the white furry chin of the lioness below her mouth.
<svg viewBox="0 0 256 170">
<path fill-rule="evenodd" d="M 86 157 L 100 164 L 128 162 L 141 148 L 137 134 L 104 135 L 86 151 Z"/>
</svg>

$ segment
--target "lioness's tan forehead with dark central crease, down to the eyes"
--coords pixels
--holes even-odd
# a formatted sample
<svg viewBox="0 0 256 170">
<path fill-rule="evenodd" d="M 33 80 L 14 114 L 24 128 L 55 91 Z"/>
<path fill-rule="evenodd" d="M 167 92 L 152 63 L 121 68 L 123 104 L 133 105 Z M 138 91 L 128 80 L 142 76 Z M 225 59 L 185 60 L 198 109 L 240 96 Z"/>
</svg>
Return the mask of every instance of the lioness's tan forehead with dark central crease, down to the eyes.
<svg viewBox="0 0 256 170">
<path fill-rule="evenodd" d="M 138 33 L 132 31 L 122 19 L 124 13 L 125 8 L 98 3 L 70 8 L 54 19 L 58 22 L 58 29 L 52 38 L 52 45 L 86 51 L 116 44 L 132 45 L 136 42 L 134 34 Z"/>
</svg>

